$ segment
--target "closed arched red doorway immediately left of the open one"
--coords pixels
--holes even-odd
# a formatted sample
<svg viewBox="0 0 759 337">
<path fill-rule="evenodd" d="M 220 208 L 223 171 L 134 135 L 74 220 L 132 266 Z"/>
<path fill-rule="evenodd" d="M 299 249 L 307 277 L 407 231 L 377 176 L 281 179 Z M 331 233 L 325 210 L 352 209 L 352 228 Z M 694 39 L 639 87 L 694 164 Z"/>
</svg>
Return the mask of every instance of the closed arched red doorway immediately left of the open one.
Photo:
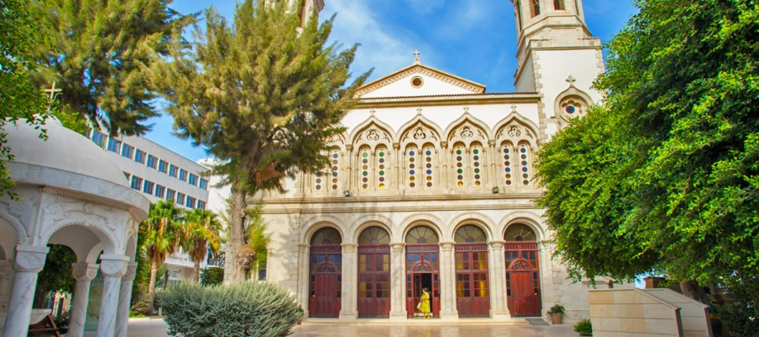
<svg viewBox="0 0 759 337">
<path fill-rule="evenodd" d="M 390 317 L 390 235 L 372 226 L 358 237 L 358 317 Z"/>
</svg>

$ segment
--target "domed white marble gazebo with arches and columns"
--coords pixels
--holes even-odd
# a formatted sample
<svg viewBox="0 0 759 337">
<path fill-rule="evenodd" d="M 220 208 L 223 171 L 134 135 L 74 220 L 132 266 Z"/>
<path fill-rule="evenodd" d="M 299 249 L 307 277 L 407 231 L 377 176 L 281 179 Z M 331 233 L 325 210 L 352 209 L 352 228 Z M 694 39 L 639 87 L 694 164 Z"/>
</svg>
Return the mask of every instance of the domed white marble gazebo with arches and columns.
<svg viewBox="0 0 759 337">
<path fill-rule="evenodd" d="M 7 124 L 14 161 L 5 163 L 17 200 L 0 198 L 0 320 L 3 334 L 25 336 L 48 244 L 77 255 L 69 336 L 84 334 L 90 282 L 103 278 L 97 336 L 125 336 L 137 264 L 137 226 L 150 202 L 130 189 L 121 169 L 87 138 L 49 119 L 49 139 L 23 121 Z M 98 263 L 99 262 L 99 263 Z"/>
</svg>

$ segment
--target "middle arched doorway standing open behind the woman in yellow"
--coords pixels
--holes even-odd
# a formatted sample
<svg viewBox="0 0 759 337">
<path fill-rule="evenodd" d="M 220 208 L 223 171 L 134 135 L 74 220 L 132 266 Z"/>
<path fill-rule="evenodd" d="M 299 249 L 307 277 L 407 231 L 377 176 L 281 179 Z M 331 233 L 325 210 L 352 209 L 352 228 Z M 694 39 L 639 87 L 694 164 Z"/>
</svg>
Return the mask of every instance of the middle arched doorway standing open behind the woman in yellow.
<svg viewBox="0 0 759 337">
<path fill-rule="evenodd" d="M 428 226 L 416 226 L 406 234 L 406 312 L 408 317 L 420 316 L 417 304 L 422 289 L 430 289 L 433 317 L 439 317 L 440 277 L 436 232 Z"/>
</svg>

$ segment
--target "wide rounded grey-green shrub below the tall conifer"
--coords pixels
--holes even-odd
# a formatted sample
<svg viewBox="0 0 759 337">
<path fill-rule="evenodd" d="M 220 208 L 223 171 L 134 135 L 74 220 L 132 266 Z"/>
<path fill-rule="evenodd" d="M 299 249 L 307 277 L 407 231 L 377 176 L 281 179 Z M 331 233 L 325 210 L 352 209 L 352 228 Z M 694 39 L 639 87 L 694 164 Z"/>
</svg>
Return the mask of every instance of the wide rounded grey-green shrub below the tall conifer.
<svg viewBox="0 0 759 337">
<path fill-rule="evenodd" d="M 203 288 L 183 282 L 158 297 L 171 335 L 285 336 L 303 318 L 294 296 L 268 282 Z"/>
</svg>

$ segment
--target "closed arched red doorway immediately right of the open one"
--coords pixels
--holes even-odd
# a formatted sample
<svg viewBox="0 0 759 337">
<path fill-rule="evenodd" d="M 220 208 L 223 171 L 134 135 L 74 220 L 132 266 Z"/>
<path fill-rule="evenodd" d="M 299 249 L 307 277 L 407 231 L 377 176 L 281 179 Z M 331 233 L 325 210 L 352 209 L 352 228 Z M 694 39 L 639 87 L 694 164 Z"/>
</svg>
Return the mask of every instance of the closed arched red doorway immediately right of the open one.
<svg viewBox="0 0 759 337">
<path fill-rule="evenodd" d="M 459 317 L 489 317 L 487 236 L 475 225 L 456 229 L 456 308 Z"/>
</svg>

